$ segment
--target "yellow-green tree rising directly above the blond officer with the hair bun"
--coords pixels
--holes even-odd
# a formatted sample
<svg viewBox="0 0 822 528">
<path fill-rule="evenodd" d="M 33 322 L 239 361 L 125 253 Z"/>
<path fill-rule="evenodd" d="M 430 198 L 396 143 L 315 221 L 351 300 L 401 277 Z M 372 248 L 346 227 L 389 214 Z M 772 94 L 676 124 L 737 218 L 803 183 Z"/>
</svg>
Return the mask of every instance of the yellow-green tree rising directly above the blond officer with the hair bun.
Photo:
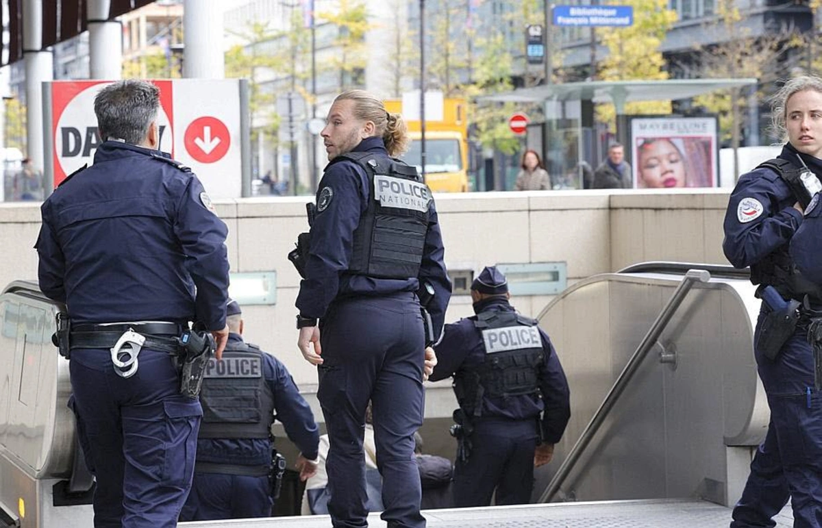
<svg viewBox="0 0 822 528">
<path fill-rule="evenodd" d="M 339 90 L 365 85 L 365 34 L 372 25 L 368 21 L 363 0 L 339 0 L 336 12 L 321 12 L 322 20 L 338 28 L 334 41 L 339 53 L 331 59 L 331 66 L 339 72 Z"/>
</svg>

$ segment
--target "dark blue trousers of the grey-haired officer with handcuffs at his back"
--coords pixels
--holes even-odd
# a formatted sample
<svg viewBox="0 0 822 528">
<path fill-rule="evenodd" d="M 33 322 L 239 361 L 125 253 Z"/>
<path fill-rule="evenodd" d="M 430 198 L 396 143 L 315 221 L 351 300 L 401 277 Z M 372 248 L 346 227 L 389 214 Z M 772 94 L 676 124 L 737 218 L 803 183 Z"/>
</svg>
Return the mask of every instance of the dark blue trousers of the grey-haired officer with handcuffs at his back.
<svg viewBox="0 0 822 528">
<path fill-rule="evenodd" d="M 69 406 L 97 479 L 97 528 L 173 528 L 192 484 L 200 401 L 180 395 L 169 354 L 139 361 L 126 379 L 109 350 L 72 350 Z"/>
</svg>

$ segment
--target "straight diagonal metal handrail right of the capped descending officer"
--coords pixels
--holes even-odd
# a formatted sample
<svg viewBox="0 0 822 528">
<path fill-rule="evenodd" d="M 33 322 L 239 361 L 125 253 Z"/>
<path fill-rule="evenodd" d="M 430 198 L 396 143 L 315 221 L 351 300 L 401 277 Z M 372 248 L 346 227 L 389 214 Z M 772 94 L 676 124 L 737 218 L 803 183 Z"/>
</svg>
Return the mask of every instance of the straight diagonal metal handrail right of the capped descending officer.
<svg viewBox="0 0 822 528">
<path fill-rule="evenodd" d="M 607 415 L 622 395 L 622 392 L 625 391 L 631 378 L 634 377 L 634 374 L 640 368 L 640 364 L 645 356 L 653 349 L 653 345 L 656 344 L 659 336 L 662 335 L 667 323 L 671 320 L 673 314 L 677 312 L 677 309 L 685 299 L 691 286 L 693 286 L 695 282 L 708 282 L 710 278 L 711 274 L 707 270 L 690 269 L 686 272 L 685 277 L 683 277 L 679 285 L 677 285 L 677 289 L 675 289 L 671 295 L 671 299 L 668 300 L 662 311 L 659 312 L 648 333 L 645 334 L 640 345 L 636 348 L 625 368 L 622 369 L 622 372 L 617 377 L 617 381 L 614 382 L 611 390 L 608 391 L 605 400 L 599 405 L 599 409 L 594 413 L 588 425 L 585 426 L 584 431 L 580 434 L 580 438 L 576 441 L 570 452 L 568 452 L 566 459 L 562 461 L 560 469 L 556 471 L 556 475 L 554 475 L 543 494 L 539 497 L 540 503 L 550 502 L 556 492 L 559 491 L 565 479 L 570 475 L 570 471 L 574 468 L 577 461 L 580 460 L 580 456 L 582 456 L 582 453 L 588 447 L 593 436 L 598 432 Z"/>
</svg>

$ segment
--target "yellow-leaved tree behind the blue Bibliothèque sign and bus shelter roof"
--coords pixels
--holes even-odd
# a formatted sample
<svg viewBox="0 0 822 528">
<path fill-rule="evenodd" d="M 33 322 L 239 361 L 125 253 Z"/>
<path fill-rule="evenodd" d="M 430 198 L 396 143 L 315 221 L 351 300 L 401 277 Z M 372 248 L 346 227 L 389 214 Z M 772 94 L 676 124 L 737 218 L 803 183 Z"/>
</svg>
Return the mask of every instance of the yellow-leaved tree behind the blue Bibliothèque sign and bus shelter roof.
<svg viewBox="0 0 822 528">
<path fill-rule="evenodd" d="M 598 64 L 598 79 L 603 81 L 629 81 L 667 79 L 665 60 L 659 46 L 667 30 L 677 21 L 677 12 L 668 9 L 667 0 L 628 0 L 619 3 L 634 7 L 634 24 L 628 27 L 611 27 L 597 30 L 608 55 Z M 626 114 L 671 113 L 671 101 L 641 101 L 628 103 Z M 617 111 L 613 104 L 597 107 L 597 118 L 616 127 Z"/>
</svg>

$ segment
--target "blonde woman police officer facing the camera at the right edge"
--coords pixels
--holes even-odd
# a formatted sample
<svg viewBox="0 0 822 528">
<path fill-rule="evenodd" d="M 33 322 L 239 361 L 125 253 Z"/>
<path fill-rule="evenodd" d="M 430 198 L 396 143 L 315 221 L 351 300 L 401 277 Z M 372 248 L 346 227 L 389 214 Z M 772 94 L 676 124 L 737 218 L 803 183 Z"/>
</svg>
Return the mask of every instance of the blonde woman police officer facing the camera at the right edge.
<svg viewBox="0 0 822 528">
<path fill-rule="evenodd" d="M 822 308 L 822 276 L 805 276 L 802 266 L 819 260 L 819 245 L 800 237 L 806 230 L 803 206 L 822 175 L 822 79 L 787 81 L 774 95 L 772 118 L 787 144 L 776 160 L 741 176 L 724 223 L 725 256 L 734 266 L 750 266 L 750 280 L 764 294 L 755 357 L 771 410 L 768 433 L 733 511 L 734 528 L 773 526 L 771 517 L 789 496 L 794 526 L 822 526 L 822 398 L 814 389 L 806 317 L 779 340 L 769 339 L 780 329 L 771 324 L 777 318 L 768 317 L 778 309 L 769 303 L 791 299 Z"/>
</svg>

